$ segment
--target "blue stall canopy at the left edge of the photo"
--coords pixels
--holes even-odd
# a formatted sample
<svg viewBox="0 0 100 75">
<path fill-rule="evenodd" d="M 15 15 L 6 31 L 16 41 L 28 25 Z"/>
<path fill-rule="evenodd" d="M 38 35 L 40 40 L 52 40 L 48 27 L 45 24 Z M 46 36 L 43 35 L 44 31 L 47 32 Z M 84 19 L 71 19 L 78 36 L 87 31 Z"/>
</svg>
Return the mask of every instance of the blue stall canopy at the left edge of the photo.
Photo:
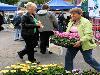
<svg viewBox="0 0 100 75">
<path fill-rule="evenodd" d="M 0 11 L 16 11 L 17 6 L 0 3 Z"/>
</svg>

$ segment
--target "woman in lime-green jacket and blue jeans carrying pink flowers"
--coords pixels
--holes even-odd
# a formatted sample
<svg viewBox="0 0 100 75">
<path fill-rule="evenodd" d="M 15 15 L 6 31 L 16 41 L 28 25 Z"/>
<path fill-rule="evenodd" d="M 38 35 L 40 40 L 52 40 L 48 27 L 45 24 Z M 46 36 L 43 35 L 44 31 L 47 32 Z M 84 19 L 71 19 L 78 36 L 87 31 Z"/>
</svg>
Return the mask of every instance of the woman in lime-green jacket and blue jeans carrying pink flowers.
<svg viewBox="0 0 100 75">
<path fill-rule="evenodd" d="M 74 31 L 80 35 L 80 40 L 73 47 L 68 48 L 65 56 L 65 69 L 73 70 L 73 59 L 80 50 L 85 62 L 100 72 L 100 64 L 92 57 L 92 50 L 96 47 L 93 40 L 92 24 L 88 19 L 82 17 L 83 12 L 80 8 L 73 8 L 70 13 L 71 20 L 67 32 L 73 33 L 72 28 L 76 29 Z"/>
</svg>

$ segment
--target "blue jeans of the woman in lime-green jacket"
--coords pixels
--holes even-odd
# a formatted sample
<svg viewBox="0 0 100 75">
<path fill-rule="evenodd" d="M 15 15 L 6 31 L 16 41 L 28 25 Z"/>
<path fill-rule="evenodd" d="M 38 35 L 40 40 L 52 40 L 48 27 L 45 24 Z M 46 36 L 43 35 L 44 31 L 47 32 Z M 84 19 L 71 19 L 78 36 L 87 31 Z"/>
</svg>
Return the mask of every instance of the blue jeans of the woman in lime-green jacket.
<svg viewBox="0 0 100 75">
<path fill-rule="evenodd" d="M 86 63 L 88 63 L 95 70 L 100 72 L 100 64 L 92 57 L 92 49 L 83 51 L 81 48 L 68 48 L 65 56 L 65 69 L 68 71 L 73 70 L 73 59 L 75 58 L 77 52 L 80 52 L 83 55 L 83 58 Z"/>
</svg>

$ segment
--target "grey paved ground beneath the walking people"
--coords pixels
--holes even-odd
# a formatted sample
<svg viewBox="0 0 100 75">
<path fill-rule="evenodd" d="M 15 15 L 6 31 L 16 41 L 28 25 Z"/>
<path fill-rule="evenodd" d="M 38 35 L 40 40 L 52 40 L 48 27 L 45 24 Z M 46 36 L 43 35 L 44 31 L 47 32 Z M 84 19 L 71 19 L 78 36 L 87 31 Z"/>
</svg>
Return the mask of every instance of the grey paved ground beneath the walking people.
<svg viewBox="0 0 100 75">
<path fill-rule="evenodd" d="M 25 63 L 27 61 L 27 55 L 24 56 L 24 61 L 22 61 L 17 52 L 24 48 L 24 41 L 14 41 L 13 40 L 14 31 L 10 29 L 9 31 L 0 32 L 0 69 L 5 66 L 16 63 Z M 67 49 L 63 48 L 63 54 L 58 56 L 56 54 L 41 54 L 40 49 L 37 47 L 38 52 L 35 53 L 35 58 L 40 61 L 41 64 L 62 64 L 64 66 L 64 59 Z M 93 57 L 100 63 L 100 46 L 97 46 L 93 50 Z M 78 52 L 74 60 L 75 69 L 92 69 L 87 63 L 84 62 L 82 54 Z"/>
</svg>

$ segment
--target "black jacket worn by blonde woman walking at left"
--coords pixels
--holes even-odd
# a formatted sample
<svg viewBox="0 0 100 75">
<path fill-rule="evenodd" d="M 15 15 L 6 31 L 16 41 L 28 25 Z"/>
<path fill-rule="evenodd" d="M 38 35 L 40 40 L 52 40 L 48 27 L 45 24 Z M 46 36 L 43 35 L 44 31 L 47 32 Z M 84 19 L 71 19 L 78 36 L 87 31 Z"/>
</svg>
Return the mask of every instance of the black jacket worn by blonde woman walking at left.
<svg viewBox="0 0 100 75">
<path fill-rule="evenodd" d="M 35 15 L 33 15 L 35 17 Z M 36 26 L 34 22 L 34 18 L 27 12 L 22 16 L 22 35 L 34 35 L 34 33 L 38 33 L 39 26 Z M 36 32 L 34 32 L 34 28 L 36 28 Z"/>
</svg>

